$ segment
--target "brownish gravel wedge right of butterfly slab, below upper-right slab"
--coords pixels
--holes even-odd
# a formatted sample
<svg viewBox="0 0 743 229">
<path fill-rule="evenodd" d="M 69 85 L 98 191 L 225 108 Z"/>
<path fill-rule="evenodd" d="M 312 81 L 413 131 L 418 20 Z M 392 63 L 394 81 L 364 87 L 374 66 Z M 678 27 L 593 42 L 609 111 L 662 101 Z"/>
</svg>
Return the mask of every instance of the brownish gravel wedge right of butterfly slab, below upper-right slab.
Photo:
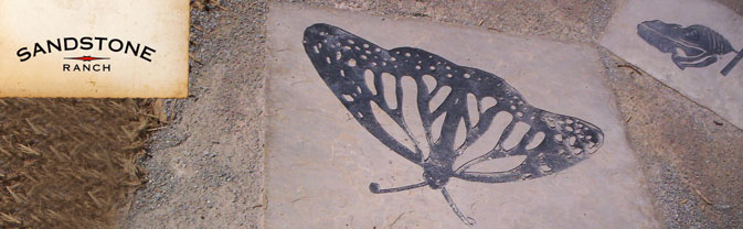
<svg viewBox="0 0 743 229">
<path fill-rule="evenodd" d="M 665 227 L 743 226 L 743 131 L 599 51 Z"/>
</svg>

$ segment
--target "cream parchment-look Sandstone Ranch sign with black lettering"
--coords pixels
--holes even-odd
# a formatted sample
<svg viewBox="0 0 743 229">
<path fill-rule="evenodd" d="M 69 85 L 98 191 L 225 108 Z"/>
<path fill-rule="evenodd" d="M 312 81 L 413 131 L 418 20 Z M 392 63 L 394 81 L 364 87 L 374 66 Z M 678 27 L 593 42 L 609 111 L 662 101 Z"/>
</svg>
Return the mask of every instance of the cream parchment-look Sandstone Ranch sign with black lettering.
<svg viewBox="0 0 743 229">
<path fill-rule="evenodd" d="M 185 97 L 188 34 L 182 0 L 0 0 L 0 97 Z"/>
</svg>

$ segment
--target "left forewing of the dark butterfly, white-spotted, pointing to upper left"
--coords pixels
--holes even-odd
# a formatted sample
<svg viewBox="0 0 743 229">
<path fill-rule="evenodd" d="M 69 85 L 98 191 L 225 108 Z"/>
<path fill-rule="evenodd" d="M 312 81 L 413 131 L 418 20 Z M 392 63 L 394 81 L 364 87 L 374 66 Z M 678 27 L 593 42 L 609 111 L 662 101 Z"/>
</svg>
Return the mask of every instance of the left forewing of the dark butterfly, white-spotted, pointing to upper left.
<svg viewBox="0 0 743 229">
<path fill-rule="evenodd" d="M 389 53 L 369 41 L 322 23 L 307 28 L 302 43 L 315 69 L 353 118 L 392 151 L 413 163 L 422 164 L 422 144 L 425 143 L 415 141 L 405 123 L 401 78 L 388 79 L 393 81 L 391 87 L 382 86 L 382 73 L 394 73 L 394 68 L 386 63 L 367 61 L 389 59 Z M 373 72 L 373 79 L 365 77 L 368 72 Z M 371 81 L 368 84 L 368 80 Z M 385 92 L 395 96 L 385 97 Z M 397 126 L 395 128 L 403 130 L 404 135 L 389 131 L 390 127 L 385 129 L 380 123 L 383 118 L 391 119 Z M 411 145 L 410 139 L 413 139 L 414 144 L 406 146 Z"/>
</svg>

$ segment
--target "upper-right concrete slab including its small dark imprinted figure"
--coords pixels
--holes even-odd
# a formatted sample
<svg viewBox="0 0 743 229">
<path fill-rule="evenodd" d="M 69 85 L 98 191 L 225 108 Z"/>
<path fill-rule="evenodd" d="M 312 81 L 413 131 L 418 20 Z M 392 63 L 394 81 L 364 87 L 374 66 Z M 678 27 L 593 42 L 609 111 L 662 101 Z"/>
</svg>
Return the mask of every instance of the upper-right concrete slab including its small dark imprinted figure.
<svg viewBox="0 0 743 229">
<path fill-rule="evenodd" d="M 599 43 L 743 128 L 743 18 L 734 11 L 711 0 L 628 0 Z"/>
</svg>

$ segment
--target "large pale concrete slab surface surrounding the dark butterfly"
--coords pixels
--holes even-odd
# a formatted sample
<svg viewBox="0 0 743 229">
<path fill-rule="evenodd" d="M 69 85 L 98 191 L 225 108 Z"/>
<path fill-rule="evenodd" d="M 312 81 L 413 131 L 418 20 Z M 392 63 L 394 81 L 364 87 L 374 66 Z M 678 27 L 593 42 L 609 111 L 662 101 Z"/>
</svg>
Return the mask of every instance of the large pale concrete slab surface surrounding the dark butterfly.
<svg viewBox="0 0 743 229">
<path fill-rule="evenodd" d="M 274 6 L 267 23 L 267 228 L 467 228 L 438 189 L 370 192 L 370 183 L 385 188 L 421 183 L 424 168 L 385 146 L 355 120 L 358 113 L 349 112 L 336 98 L 302 45 L 305 30 L 315 23 L 342 28 L 382 48 L 420 47 L 492 73 L 520 91 L 529 105 L 601 128 L 601 149 L 556 174 L 498 184 L 449 179 L 445 187 L 463 214 L 477 220 L 475 228 L 657 227 L 612 92 L 603 85 L 603 67 L 591 46 L 286 6 Z M 379 55 L 368 58 L 374 56 Z M 354 64 L 364 63 L 361 58 Z M 384 85 L 384 77 L 379 78 L 369 84 Z M 415 89 L 401 85 L 403 91 Z M 379 97 L 383 88 L 392 87 L 376 86 Z M 411 107 L 405 97 L 399 101 L 403 109 Z M 511 118 L 519 117 L 511 113 Z M 493 123 L 499 120 L 497 116 L 491 119 Z M 380 124 L 385 130 L 394 127 L 390 120 Z M 400 132 L 390 133 L 396 137 Z M 488 146 L 489 141 L 481 142 Z M 492 138 L 489 146 L 497 142 Z M 468 153 L 461 157 L 471 156 Z M 520 163 L 499 162 L 491 168 L 509 170 Z"/>
</svg>

